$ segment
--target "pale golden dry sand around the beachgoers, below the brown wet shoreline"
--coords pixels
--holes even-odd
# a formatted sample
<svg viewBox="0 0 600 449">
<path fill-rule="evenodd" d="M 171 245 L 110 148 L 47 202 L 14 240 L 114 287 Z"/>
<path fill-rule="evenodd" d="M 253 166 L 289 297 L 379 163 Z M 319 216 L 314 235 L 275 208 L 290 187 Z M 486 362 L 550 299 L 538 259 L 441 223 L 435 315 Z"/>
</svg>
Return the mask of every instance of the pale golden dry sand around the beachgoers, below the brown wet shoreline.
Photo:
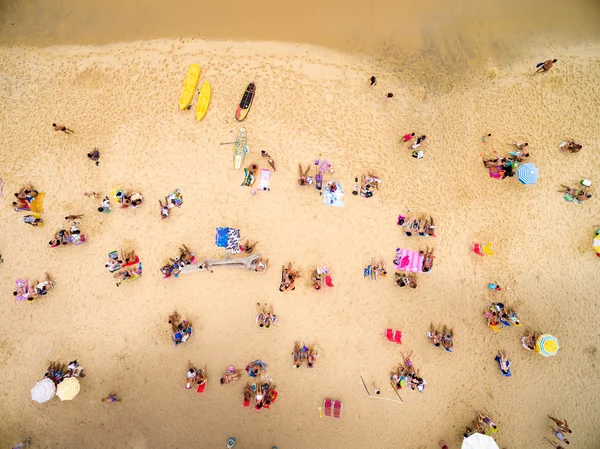
<svg viewBox="0 0 600 449">
<path fill-rule="evenodd" d="M 193 35 L 186 31 L 180 35 Z M 507 44 L 510 52 L 491 55 L 479 48 L 465 56 L 474 64 L 444 77 L 427 57 L 415 59 L 419 70 L 399 70 L 389 59 L 393 50 L 385 58 L 378 50 L 311 45 L 327 45 L 326 38 L 275 42 L 293 41 L 293 31 L 259 42 L 235 34 L 175 38 L 167 27 L 163 38 L 117 33 L 93 42 L 80 34 L 35 46 L 27 33 L 2 32 L 2 447 L 31 436 L 35 448 L 217 448 L 235 436 L 236 449 L 435 448 L 440 439 L 458 448 L 473 408 L 494 417 L 501 448 L 550 447 L 547 414 L 568 419 L 572 447 L 598 447 L 600 261 L 591 241 L 600 214 L 597 198 L 577 205 L 557 192 L 584 178 L 593 189 L 600 182 L 600 53 L 584 31 L 564 45 L 532 37 L 535 48 L 526 50 Z M 550 57 L 558 59 L 550 73 L 534 76 L 535 64 Z M 201 122 L 178 110 L 193 63 L 213 90 Z M 231 145 L 220 145 L 237 135 L 235 109 L 250 81 L 257 94 L 242 125 L 250 146 L 245 162 L 268 168 L 265 150 L 277 166 L 271 190 L 257 195 L 240 187 Z M 394 97 L 385 100 L 387 92 Z M 53 122 L 75 133 L 54 132 Z M 423 159 L 400 143 L 406 132 L 427 135 Z M 482 143 L 488 132 L 493 139 Z M 584 149 L 561 153 L 566 138 Z M 536 185 L 493 180 L 482 167 L 480 153 L 508 152 L 510 140 L 529 142 Z M 99 166 L 86 158 L 94 147 Z M 313 188 L 297 186 L 298 163 L 315 159 L 333 164 L 326 180 L 340 182 L 344 207 L 324 205 Z M 367 172 L 382 179 L 381 188 L 369 199 L 353 196 L 354 178 Z M 21 223 L 10 205 L 27 182 L 46 193 L 41 228 Z M 106 215 L 96 210 L 99 200 L 83 196 L 117 187 L 139 190 L 146 203 L 135 213 Z M 161 220 L 158 200 L 175 188 L 185 203 Z M 405 237 L 396 218 L 407 210 L 431 214 L 437 237 Z M 89 241 L 49 248 L 63 217 L 77 213 Z M 269 271 L 161 279 L 160 267 L 181 243 L 201 257 L 224 257 L 214 243 L 219 226 L 258 240 L 255 251 L 270 260 Z M 474 242 L 492 242 L 495 255 L 474 255 Z M 419 275 L 416 290 L 399 289 L 392 276 L 363 279 L 373 257 L 391 272 L 397 247 L 426 246 L 435 248 L 435 269 Z M 144 274 L 117 288 L 104 263 L 119 248 L 136 250 Z M 282 294 L 280 267 L 288 262 L 302 277 Z M 312 289 L 317 265 L 330 268 L 333 289 Z M 16 303 L 14 281 L 41 279 L 45 271 L 56 288 L 31 304 Z M 489 282 L 505 287 L 496 299 L 519 311 L 523 328 L 489 329 Z M 255 325 L 257 302 L 274 305 L 276 326 Z M 192 339 L 177 348 L 167 324 L 173 310 L 195 325 Z M 431 322 L 454 328 L 452 354 L 427 340 Z M 388 327 L 403 331 L 402 346 L 385 340 Z M 556 336 L 558 355 L 523 350 L 524 329 Z M 314 369 L 294 369 L 297 340 L 318 346 Z M 499 348 L 511 355 L 511 379 L 493 361 Z M 425 393 L 400 391 L 404 404 L 367 397 L 360 376 L 396 398 L 388 382 L 399 351 L 414 352 Z M 74 358 L 87 372 L 79 396 L 31 401 L 48 361 Z M 247 376 L 218 382 L 228 365 L 243 368 L 255 359 L 269 364 L 279 390 L 271 410 L 259 413 L 241 406 Z M 208 366 L 203 395 L 183 388 L 188 360 Z M 100 401 L 112 391 L 122 403 Z M 329 397 L 343 401 L 342 419 L 319 417 Z"/>
</svg>

